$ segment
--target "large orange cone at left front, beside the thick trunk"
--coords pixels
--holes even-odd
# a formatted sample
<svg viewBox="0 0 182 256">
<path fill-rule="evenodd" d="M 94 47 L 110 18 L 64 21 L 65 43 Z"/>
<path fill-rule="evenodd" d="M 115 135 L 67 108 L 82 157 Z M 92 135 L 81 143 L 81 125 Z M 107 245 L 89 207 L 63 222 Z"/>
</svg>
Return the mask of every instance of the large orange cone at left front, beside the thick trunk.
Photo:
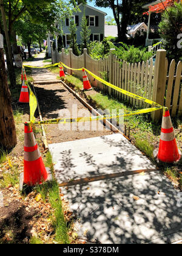
<svg viewBox="0 0 182 256">
<path fill-rule="evenodd" d="M 30 124 L 25 123 L 24 184 L 34 186 L 47 180 L 48 174 Z"/>
</svg>

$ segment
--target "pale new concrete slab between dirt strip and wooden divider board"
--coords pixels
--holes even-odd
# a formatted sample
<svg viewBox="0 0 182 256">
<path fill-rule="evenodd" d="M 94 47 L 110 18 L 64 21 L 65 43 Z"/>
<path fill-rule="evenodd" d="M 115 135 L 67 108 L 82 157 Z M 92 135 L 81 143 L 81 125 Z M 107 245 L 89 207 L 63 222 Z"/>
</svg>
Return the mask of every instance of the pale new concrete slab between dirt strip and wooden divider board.
<svg viewBox="0 0 182 256">
<path fill-rule="evenodd" d="M 140 169 L 150 160 L 120 133 L 49 145 L 58 183 Z"/>
</svg>

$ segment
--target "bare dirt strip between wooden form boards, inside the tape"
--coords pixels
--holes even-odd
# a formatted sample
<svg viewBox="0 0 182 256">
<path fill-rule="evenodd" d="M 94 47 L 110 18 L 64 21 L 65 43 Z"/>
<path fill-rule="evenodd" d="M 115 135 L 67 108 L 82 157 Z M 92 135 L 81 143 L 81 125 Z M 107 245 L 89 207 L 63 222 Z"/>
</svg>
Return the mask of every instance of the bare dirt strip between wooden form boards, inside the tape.
<svg viewBox="0 0 182 256">
<path fill-rule="evenodd" d="M 35 85 L 36 94 L 38 96 L 39 106 L 41 108 L 43 119 L 52 118 L 71 118 L 83 116 L 90 116 L 91 113 L 84 107 L 78 99 L 73 96 L 61 83 L 50 85 Z M 69 116 L 70 113 L 70 116 Z M 76 113 L 76 114 L 75 114 Z M 83 114 L 84 113 L 84 114 Z M 38 116 L 37 116 L 38 118 Z M 92 124 L 91 124 L 92 123 Z M 88 124 L 87 124 L 88 125 Z M 79 123 L 76 126 L 67 126 L 62 130 L 62 126 L 58 124 L 49 124 L 45 126 L 45 132 L 47 135 L 47 141 L 51 143 L 61 143 L 64 141 L 81 140 L 84 138 L 100 137 L 103 135 L 112 134 L 112 132 L 104 127 L 96 126 L 93 129 L 93 122 L 90 122 L 84 130 L 84 123 Z"/>
</svg>

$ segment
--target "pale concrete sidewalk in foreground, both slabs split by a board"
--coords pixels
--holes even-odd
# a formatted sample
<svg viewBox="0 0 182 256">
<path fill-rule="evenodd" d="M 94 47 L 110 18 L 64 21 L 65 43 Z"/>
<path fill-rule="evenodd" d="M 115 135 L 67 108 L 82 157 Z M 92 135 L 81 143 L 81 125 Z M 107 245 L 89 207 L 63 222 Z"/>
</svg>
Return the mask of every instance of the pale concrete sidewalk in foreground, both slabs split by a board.
<svg viewBox="0 0 182 256">
<path fill-rule="evenodd" d="M 50 144 L 59 183 L 155 168 L 121 134 Z M 179 191 L 159 171 L 62 188 L 78 235 L 94 243 L 172 243 L 182 237 Z"/>
</svg>

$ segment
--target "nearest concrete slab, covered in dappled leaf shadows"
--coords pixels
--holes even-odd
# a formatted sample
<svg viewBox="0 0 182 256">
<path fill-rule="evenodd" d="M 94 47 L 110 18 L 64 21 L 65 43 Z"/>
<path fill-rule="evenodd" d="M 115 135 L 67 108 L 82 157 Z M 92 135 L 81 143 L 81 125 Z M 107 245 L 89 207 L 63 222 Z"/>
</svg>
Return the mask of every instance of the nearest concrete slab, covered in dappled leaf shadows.
<svg viewBox="0 0 182 256">
<path fill-rule="evenodd" d="M 61 188 L 80 238 L 94 243 L 174 243 L 182 237 L 180 193 L 160 172 Z"/>
</svg>

